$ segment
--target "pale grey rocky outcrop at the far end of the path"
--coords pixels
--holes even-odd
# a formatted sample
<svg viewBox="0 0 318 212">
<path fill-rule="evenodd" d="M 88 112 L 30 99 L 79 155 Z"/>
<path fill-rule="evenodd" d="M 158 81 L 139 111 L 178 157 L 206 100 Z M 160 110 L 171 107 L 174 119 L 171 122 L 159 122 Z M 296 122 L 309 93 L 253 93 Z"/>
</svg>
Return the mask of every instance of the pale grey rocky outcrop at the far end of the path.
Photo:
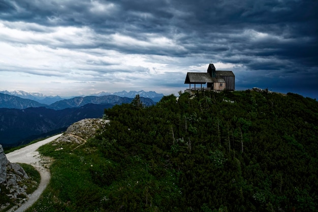
<svg viewBox="0 0 318 212">
<path fill-rule="evenodd" d="M 102 118 L 86 118 L 71 125 L 67 131 L 57 139 L 57 142 L 84 143 L 88 138 L 95 135 L 98 130 L 102 130 L 108 125 L 109 120 Z"/>
</svg>

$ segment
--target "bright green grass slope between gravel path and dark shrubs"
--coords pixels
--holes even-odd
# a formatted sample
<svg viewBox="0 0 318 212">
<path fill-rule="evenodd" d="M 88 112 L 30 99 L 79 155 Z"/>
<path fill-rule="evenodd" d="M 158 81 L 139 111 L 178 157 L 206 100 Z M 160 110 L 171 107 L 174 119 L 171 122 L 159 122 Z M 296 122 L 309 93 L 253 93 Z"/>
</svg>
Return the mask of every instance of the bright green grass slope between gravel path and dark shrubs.
<svg viewBox="0 0 318 212">
<path fill-rule="evenodd" d="M 52 145 L 53 144 L 53 145 Z M 54 158 L 51 180 L 38 202 L 27 211 L 95 211 L 102 199 L 101 189 L 91 179 L 90 168 L 96 156 L 72 151 L 72 144 L 50 143 L 39 152 Z M 59 150 L 57 150 L 59 149 Z"/>
</svg>

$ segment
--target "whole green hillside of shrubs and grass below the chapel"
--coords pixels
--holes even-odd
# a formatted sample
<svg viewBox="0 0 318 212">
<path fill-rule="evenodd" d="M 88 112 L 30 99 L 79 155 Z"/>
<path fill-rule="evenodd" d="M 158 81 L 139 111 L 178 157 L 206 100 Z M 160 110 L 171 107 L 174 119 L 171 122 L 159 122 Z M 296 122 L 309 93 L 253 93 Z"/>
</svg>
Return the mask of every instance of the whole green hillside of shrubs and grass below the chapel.
<svg viewBox="0 0 318 212">
<path fill-rule="evenodd" d="M 52 179 L 29 211 L 318 210 L 315 100 L 246 90 L 138 103 L 106 109 L 110 125 L 84 145 L 43 146 Z"/>
</svg>

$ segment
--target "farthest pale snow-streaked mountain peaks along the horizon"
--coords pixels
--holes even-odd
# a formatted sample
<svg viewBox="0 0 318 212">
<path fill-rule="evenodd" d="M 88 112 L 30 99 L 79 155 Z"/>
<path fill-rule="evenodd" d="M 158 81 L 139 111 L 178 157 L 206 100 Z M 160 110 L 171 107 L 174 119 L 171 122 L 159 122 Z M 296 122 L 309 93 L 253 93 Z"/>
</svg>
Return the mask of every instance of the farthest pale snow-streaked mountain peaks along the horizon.
<svg viewBox="0 0 318 212">
<path fill-rule="evenodd" d="M 45 95 L 40 94 L 40 93 L 24 92 L 23 90 L 14 90 L 13 92 L 9 92 L 8 90 L 3 90 L 3 91 L 0 91 L 0 93 L 20 97 L 23 99 L 34 100 L 34 101 L 37 101 L 41 104 L 46 104 L 46 105 L 50 105 L 50 104 L 57 102 L 57 101 L 60 101 L 60 100 L 74 98 L 74 97 L 63 97 L 62 98 L 59 96 L 45 96 Z M 138 92 L 135 90 L 131 90 L 130 92 L 126 92 L 125 90 L 123 90 L 122 92 L 115 92 L 115 93 L 101 92 L 98 94 L 91 94 L 88 96 L 101 97 L 101 96 L 114 95 L 114 96 L 119 96 L 119 97 L 135 98 L 137 94 L 140 97 L 149 98 L 154 102 L 159 102 L 161 100 L 161 98 L 164 96 L 163 94 L 157 94 L 153 91 L 145 92 L 144 90 L 139 90 Z M 81 96 L 81 97 L 84 97 L 84 96 Z"/>
</svg>

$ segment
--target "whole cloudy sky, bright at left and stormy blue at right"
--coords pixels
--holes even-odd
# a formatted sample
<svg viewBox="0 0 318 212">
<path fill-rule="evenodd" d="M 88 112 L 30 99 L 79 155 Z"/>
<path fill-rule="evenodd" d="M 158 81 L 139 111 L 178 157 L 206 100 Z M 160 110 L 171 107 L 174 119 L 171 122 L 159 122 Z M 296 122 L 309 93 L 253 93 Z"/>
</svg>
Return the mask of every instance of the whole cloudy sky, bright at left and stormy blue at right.
<svg viewBox="0 0 318 212">
<path fill-rule="evenodd" d="M 316 0 L 0 0 L 0 90 L 165 95 L 187 72 L 318 99 Z"/>
</svg>

